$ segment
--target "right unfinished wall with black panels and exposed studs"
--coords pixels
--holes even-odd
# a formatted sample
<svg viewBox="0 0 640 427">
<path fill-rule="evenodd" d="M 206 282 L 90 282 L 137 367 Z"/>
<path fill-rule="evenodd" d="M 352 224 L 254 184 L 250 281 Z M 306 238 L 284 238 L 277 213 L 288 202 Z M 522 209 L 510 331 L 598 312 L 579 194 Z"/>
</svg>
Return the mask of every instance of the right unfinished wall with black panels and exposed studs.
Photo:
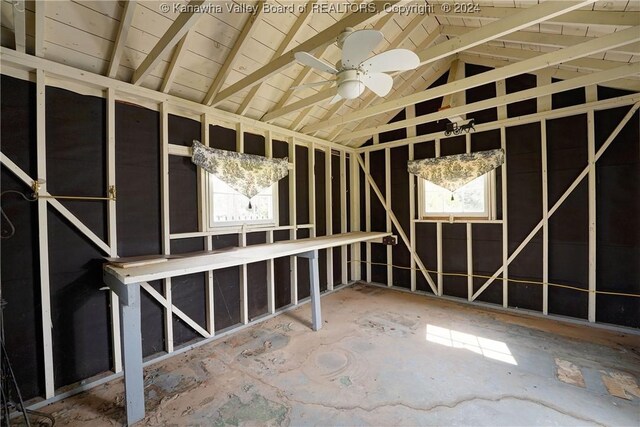
<svg viewBox="0 0 640 427">
<path fill-rule="evenodd" d="M 465 66 L 466 76 L 486 70 Z M 445 73 L 432 87 L 445 84 L 447 78 Z M 466 103 L 494 98 L 498 85 L 506 94 L 535 87 L 536 79 L 520 75 L 469 89 Z M 365 245 L 363 278 L 414 291 L 434 293 L 435 289 L 438 295 L 463 300 L 640 327 L 635 314 L 640 312 L 640 298 L 608 294 L 640 294 L 637 111 L 596 159 L 592 190 L 585 171 L 589 143 L 597 156 L 632 103 L 621 101 L 626 105 L 605 109 L 582 106 L 628 94 L 603 87 L 581 88 L 472 112 L 467 119 L 474 118 L 476 126 L 495 125 L 468 135 L 444 137 L 446 120 L 374 135 L 360 155 L 385 200 L 390 200 L 415 254 L 402 240 L 392 250 Z M 434 113 L 441 106 L 442 98 L 425 101 L 398 112 L 391 122 Z M 541 113 L 535 120 L 508 121 L 538 111 L 550 113 Z M 413 135 L 418 139 L 407 138 Z M 500 147 L 506 150 L 506 162 L 496 170 L 496 220 L 418 219 L 417 181 L 406 172 L 408 159 Z M 575 188 L 565 194 L 579 176 Z M 369 206 L 370 212 L 363 228 L 398 234 L 384 203 L 364 180 L 360 192 L 366 195 L 362 206 Z M 416 212 L 411 212 L 414 201 Z M 595 206 L 591 232 L 590 203 Z M 590 268 L 590 259 L 595 260 L 595 268 Z M 433 289 L 418 261 L 429 270 Z M 495 280 L 488 281 L 489 277 Z"/>
</svg>

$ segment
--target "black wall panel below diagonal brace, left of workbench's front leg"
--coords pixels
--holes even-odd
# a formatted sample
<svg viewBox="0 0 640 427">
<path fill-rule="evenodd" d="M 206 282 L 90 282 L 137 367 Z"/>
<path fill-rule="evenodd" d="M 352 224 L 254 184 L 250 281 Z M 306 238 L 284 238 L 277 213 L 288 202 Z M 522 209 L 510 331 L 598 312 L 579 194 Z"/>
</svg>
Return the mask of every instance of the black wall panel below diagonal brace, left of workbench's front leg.
<svg viewBox="0 0 640 427">
<path fill-rule="evenodd" d="M 49 209 L 49 289 L 55 386 L 111 366 L 108 293 L 101 291 L 103 254 Z"/>
</svg>

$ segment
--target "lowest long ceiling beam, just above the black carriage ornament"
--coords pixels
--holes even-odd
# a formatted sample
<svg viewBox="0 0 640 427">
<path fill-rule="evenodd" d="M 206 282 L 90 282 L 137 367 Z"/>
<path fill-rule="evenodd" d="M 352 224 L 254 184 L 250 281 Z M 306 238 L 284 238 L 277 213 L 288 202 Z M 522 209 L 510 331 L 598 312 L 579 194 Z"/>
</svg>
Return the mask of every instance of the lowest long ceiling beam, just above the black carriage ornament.
<svg viewBox="0 0 640 427">
<path fill-rule="evenodd" d="M 361 138 L 373 134 L 379 134 L 381 132 L 388 132 L 390 130 L 406 128 L 409 126 L 416 126 L 422 123 L 429 123 L 436 120 L 442 120 L 447 118 L 451 114 L 462 115 L 473 111 L 480 111 L 487 108 L 493 108 L 500 105 L 507 105 L 513 102 L 523 101 L 525 99 L 538 98 L 541 96 L 547 96 L 558 92 L 564 92 L 566 90 L 576 89 L 580 87 L 595 85 L 608 80 L 614 80 L 623 78 L 632 74 L 640 72 L 640 63 L 625 64 L 618 68 L 611 70 L 600 71 L 597 73 L 586 74 L 580 77 L 575 77 L 569 80 L 563 80 L 560 82 L 551 83 L 544 86 L 537 86 L 532 89 L 526 89 L 519 92 L 511 93 L 505 96 L 494 97 L 486 99 L 484 101 L 478 101 L 471 104 L 462 105 L 460 107 L 451 108 L 449 110 L 437 111 L 431 114 L 425 114 L 412 119 L 401 120 L 386 125 L 376 126 L 370 129 L 365 129 L 358 132 L 351 132 L 346 135 L 342 135 L 338 138 L 337 142 L 349 141 L 355 138 Z"/>
</svg>

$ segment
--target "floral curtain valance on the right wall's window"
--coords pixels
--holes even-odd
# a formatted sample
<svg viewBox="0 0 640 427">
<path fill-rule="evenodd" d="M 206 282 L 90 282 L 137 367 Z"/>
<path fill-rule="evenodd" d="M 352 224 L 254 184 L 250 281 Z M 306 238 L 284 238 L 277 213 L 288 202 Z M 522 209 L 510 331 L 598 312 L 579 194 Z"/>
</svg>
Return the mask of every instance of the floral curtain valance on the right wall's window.
<svg viewBox="0 0 640 427">
<path fill-rule="evenodd" d="M 504 163 L 504 150 L 478 151 L 469 154 L 410 160 L 409 173 L 418 175 L 449 191 L 456 191 L 479 176 Z"/>
</svg>

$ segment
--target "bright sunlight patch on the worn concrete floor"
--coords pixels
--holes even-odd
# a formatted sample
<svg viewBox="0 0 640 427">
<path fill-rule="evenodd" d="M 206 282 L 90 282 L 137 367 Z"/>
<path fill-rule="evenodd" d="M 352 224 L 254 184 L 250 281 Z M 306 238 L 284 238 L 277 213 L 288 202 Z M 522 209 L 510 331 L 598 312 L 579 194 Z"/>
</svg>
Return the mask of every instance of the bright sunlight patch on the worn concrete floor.
<svg viewBox="0 0 640 427">
<path fill-rule="evenodd" d="M 464 348 L 484 357 L 517 365 L 509 347 L 502 341 L 490 340 L 465 332 L 427 324 L 427 341 L 452 348 Z"/>
</svg>

